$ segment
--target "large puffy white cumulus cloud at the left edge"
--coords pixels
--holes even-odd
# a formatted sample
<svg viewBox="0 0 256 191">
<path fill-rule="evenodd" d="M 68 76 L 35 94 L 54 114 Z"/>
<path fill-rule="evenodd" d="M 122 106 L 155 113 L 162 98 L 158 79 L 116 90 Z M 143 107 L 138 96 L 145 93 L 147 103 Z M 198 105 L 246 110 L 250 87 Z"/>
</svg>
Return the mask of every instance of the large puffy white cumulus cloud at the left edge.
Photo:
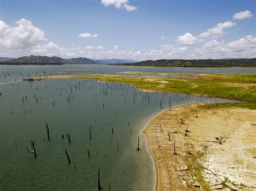
<svg viewBox="0 0 256 191">
<path fill-rule="evenodd" d="M 46 41 L 45 33 L 29 20 L 17 20 L 18 26 L 10 27 L 0 20 L 0 45 L 12 49 L 29 48 Z"/>
</svg>

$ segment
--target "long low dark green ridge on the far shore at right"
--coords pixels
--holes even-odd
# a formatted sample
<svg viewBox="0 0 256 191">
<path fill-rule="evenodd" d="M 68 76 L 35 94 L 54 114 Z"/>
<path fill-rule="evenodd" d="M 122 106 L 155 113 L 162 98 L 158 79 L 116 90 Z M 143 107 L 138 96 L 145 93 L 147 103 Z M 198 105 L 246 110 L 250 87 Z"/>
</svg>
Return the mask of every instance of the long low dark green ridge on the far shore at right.
<svg viewBox="0 0 256 191">
<path fill-rule="evenodd" d="M 205 59 L 205 60 L 146 60 L 124 63 L 129 66 L 163 66 L 163 67 L 256 67 L 256 58 L 252 59 Z"/>
</svg>

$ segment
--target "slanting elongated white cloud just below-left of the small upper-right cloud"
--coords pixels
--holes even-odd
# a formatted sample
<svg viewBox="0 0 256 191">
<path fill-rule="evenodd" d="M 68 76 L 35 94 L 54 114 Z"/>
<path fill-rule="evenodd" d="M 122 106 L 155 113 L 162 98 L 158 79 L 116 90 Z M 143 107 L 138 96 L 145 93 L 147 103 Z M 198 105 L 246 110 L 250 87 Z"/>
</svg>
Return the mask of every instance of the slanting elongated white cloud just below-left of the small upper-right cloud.
<svg viewBox="0 0 256 191">
<path fill-rule="evenodd" d="M 235 25 L 233 22 L 218 23 L 217 26 L 214 26 L 211 29 L 208 29 L 206 32 L 199 34 L 199 38 L 217 38 L 227 32 L 224 29 L 231 28 Z"/>
</svg>

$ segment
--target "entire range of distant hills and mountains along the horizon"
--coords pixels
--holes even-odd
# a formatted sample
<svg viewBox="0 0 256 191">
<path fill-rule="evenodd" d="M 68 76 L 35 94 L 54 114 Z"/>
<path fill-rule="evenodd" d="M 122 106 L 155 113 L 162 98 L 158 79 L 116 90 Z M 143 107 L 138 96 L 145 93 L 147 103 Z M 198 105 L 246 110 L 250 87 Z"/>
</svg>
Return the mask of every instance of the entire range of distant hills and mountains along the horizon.
<svg viewBox="0 0 256 191">
<path fill-rule="evenodd" d="M 130 59 L 63 59 L 57 56 L 23 56 L 12 59 L 0 58 L 0 65 L 65 65 L 65 64 L 107 64 L 125 66 L 160 66 L 160 67 L 256 67 L 256 58 L 227 58 L 227 59 L 200 59 L 200 60 L 146 60 L 137 62 Z"/>
</svg>

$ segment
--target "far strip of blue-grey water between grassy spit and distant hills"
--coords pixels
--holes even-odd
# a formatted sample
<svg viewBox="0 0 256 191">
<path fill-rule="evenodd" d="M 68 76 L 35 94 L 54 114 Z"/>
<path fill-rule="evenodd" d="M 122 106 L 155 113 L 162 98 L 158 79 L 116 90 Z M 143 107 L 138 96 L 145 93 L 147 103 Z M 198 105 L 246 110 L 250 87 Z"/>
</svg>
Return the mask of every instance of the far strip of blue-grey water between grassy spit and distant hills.
<svg viewBox="0 0 256 191">
<path fill-rule="evenodd" d="M 107 65 L 0 65 L 0 83 L 22 80 L 22 77 L 38 77 L 67 74 L 118 74 L 142 76 L 142 74 L 125 74 L 123 72 L 159 72 L 159 73 L 256 73 L 256 68 L 151 68 L 151 67 L 125 67 Z M 146 74 L 144 76 L 156 76 Z M 159 75 L 157 75 L 159 76 Z"/>
</svg>

